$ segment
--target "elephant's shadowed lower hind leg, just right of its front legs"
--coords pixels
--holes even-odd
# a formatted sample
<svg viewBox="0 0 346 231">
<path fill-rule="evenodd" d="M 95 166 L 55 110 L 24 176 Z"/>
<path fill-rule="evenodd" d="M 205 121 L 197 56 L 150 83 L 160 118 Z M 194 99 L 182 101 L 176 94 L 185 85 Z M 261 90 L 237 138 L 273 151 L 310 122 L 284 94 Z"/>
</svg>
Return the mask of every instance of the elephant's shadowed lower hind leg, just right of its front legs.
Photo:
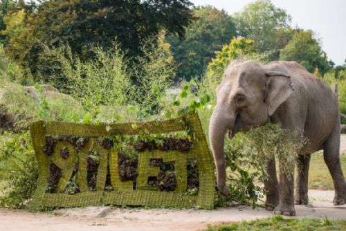
<svg viewBox="0 0 346 231">
<path fill-rule="evenodd" d="M 297 160 L 297 178 L 295 179 L 295 205 L 307 205 L 307 183 L 311 154 L 299 155 Z"/>
</svg>

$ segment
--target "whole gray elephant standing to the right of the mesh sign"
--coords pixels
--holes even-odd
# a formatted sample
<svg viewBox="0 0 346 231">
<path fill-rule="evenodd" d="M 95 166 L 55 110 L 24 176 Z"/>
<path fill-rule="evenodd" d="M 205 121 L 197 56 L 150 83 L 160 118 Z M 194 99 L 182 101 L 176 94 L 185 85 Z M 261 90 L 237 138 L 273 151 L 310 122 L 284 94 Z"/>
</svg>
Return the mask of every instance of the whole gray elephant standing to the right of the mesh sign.
<svg viewBox="0 0 346 231">
<path fill-rule="evenodd" d="M 271 62 L 265 66 L 253 61 L 233 61 L 216 89 L 217 105 L 210 118 L 209 138 L 217 169 L 217 185 L 228 194 L 224 156 L 224 136 L 259 127 L 266 122 L 284 129 L 304 131 L 309 144 L 298 156 L 298 176 L 294 192 L 291 181 L 280 169 L 280 185 L 275 160 L 268 163 L 271 179 L 264 182 L 266 210 L 294 216 L 294 204 L 307 204 L 310 154 L 324 150 L 325 163 L 333 178 L 334 205 L 346 203 L 346 183 L 340 166 L 340 115 L 338 100 L 329 86 L 296 62 Z"/>
</svg>

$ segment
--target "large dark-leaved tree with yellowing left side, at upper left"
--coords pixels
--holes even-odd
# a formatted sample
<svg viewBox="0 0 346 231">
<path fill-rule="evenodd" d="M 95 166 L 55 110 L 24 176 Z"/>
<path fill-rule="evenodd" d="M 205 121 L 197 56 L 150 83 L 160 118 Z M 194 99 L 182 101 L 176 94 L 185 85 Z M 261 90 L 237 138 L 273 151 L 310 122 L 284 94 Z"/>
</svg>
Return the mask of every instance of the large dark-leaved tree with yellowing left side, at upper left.
<svg viewBox="0 0 346 231">
<path fill-rule="evenodd" d="M 32 3 L 30 3 L 32 4 Z M 188 0 L 48 0 L 26 4 L 24 39 L 9 44 L 11 57 L 37 70 L 42 44 L 71 46 L 73 54 L 89 59 L 89 44 L 103 48 L 112 46 L 114 39 L 127 55 L 143 55 L 140 41 L 165 28 L 167 33 L 183 37 L 185 26 L 193 19 Z M 12 49 L 28 44 L 25 50 Z"/>
</svg>

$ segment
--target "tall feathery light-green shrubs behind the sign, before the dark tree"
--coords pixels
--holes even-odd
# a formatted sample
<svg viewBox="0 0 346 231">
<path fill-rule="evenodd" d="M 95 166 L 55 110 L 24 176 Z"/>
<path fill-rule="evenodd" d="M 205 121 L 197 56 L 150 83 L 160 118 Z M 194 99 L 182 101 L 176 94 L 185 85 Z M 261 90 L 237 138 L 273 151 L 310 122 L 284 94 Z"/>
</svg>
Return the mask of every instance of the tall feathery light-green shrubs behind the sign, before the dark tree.
<svg viewBox="0 0 346 231">
<path fill-rule="evenodd" d="M 116 42 L 110 50 L 90 46 L 95 57 L 87 62 L 73 56 L 68 45 L 54 49 L 44 46 L 39 62 L 40 80 L 73 95 L 93 118 L 100 106 L 130 104 L 138 111 L 156 113 L 157 99 L 165 94 L 175 73 L 164 35 L 163 31 L 157 38 L 146 39 L 141 46 L 144 55 L 134 59 L 128 59 Z"/>
</svg>

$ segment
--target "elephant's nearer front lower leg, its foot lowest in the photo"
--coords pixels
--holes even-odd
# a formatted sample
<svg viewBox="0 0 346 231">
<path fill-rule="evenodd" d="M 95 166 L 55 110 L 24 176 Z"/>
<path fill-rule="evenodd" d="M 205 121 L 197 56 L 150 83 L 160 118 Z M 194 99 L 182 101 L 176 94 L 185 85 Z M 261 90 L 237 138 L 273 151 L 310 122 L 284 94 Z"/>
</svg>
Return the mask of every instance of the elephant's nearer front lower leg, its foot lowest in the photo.
<svg viewBox="0 0 346 231">
<path fill-rule="evenodd" d="M 284 172 L 282 166 L 280 166 L 279 194 L 279 205 L 275 207 L 274 213 L 284 216 L 295 216 L 293 171 Z"/>
</svg>

